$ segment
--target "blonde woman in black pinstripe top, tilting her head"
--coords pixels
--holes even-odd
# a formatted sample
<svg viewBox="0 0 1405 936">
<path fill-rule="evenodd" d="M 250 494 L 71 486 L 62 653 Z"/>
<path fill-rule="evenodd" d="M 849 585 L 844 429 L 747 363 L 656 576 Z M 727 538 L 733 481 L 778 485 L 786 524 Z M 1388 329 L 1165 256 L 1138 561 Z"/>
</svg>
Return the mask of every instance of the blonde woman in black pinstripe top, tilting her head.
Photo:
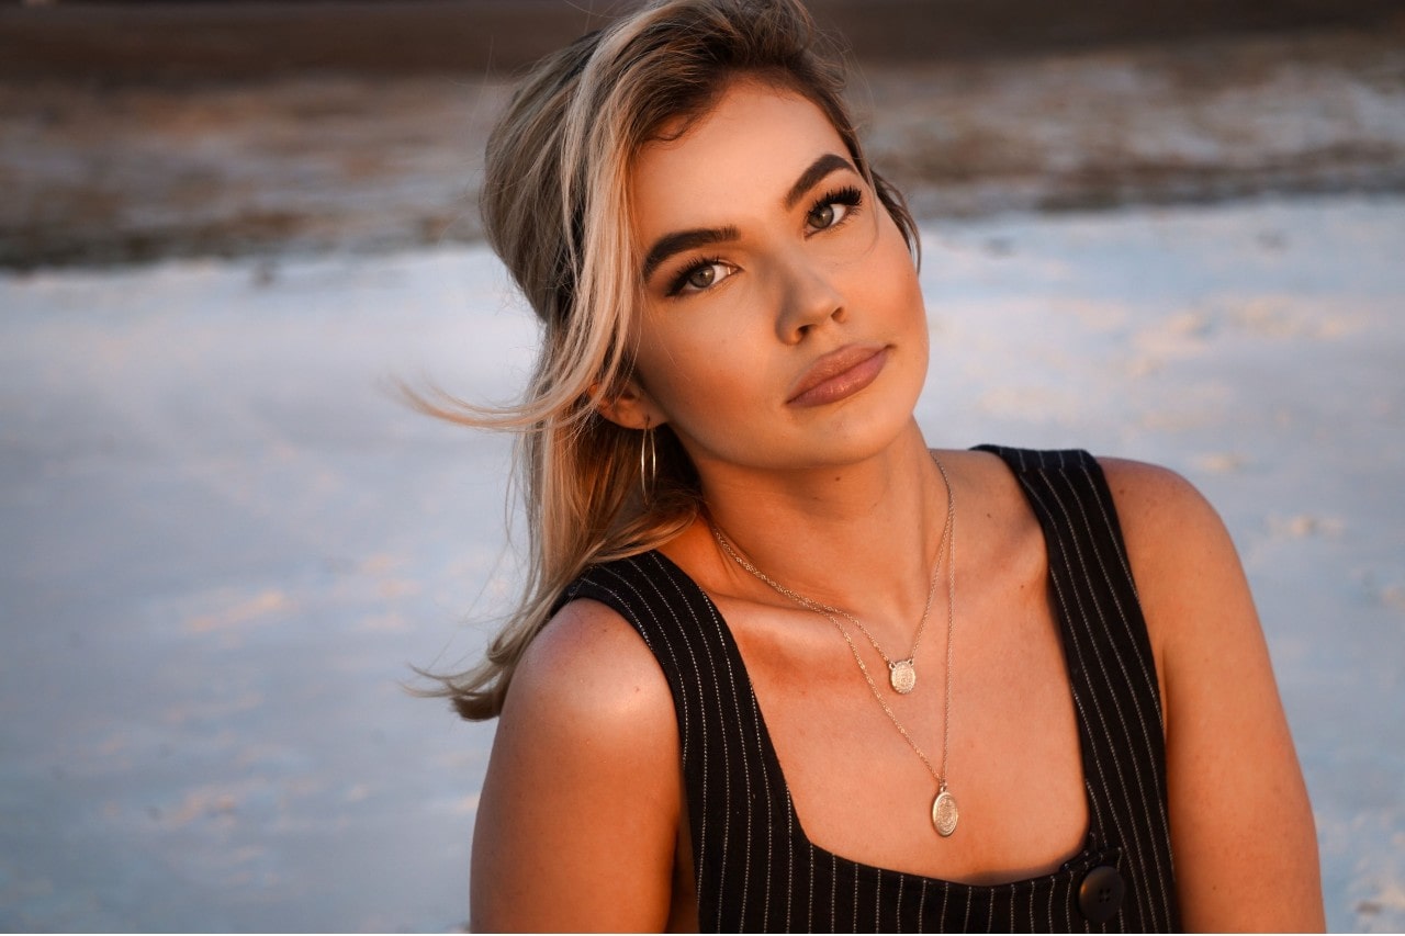
<svg viewBox="0 0 1405 936">
<path fill-rule="evenodd" d="M 929 451 L 916 230 L 794 0 L 542 62 L 485 219 L 542 319 L 475 929 L 1318 929 L 1234 548 L 1173 474 Z"/>
</svg>

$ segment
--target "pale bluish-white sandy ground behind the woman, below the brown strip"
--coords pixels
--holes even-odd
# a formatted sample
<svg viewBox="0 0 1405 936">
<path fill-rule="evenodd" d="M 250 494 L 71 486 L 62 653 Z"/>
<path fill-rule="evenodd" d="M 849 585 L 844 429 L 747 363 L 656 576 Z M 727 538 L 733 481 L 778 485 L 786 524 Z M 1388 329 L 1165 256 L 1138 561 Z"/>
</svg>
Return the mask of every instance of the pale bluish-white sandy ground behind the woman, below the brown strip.
<svg viewBox="0 0 1405 936">
<path fill-rule="evenodd" d="M 934 444 L 1161 461 L 1221 507 L 1328 915 L 1405 928 L 1405 200 L 929 225 Z M 409 698 L 503 607 L 479 247 L 0 275 L 0 928 L 444 930 L 490 725 Z"/>
</svg>

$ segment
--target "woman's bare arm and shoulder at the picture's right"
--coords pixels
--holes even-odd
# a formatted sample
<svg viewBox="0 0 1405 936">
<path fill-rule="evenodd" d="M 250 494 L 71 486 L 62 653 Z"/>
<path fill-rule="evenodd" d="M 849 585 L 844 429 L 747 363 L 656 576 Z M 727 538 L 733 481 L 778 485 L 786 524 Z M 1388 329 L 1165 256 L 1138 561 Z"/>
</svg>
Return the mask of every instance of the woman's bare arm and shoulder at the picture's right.
<svg viewBox="0 0 1405 936">
<path fill-rule="evenodd" d="M 1316 833 L 1239 558 L 1184 479 L 1103 462 L 1156 651 L 1189 930 L 1322 930 Z"/>
</svg>

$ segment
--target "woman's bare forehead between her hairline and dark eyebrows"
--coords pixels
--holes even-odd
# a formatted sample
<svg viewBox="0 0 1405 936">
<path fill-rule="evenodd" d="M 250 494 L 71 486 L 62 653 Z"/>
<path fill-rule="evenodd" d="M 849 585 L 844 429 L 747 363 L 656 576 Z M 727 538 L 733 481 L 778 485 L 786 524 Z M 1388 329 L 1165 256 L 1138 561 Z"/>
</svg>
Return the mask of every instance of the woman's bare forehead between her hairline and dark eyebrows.
<svg viewBox="0 0 1405 936">
<path fill-rule="evenodd" d="M 849 148 L 819 105 L 795 91 L 736 80 L 679 136 L 651 141 L 635 156 L 635 228 L 648 238 L 732 223 L 738 214 L 778 205 L 825 153 L 847 157 Z"/>
</svg>

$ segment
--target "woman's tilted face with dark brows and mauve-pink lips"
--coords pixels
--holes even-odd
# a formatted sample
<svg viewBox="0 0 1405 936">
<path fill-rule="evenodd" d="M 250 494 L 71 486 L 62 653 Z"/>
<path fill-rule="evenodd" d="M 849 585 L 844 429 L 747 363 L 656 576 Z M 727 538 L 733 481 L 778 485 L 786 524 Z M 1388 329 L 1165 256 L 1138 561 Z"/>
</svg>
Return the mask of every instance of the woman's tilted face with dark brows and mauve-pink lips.
<svg viewBox="0 0 1405 936">
<path fill-rule="evenodd" d="M 927 370 L 916 271 L 815 104 L 735 82 L 638 155 L 631 200 L 642 412 L 704 476 L 847 464 L 910 426 Z"/>
</svg>

